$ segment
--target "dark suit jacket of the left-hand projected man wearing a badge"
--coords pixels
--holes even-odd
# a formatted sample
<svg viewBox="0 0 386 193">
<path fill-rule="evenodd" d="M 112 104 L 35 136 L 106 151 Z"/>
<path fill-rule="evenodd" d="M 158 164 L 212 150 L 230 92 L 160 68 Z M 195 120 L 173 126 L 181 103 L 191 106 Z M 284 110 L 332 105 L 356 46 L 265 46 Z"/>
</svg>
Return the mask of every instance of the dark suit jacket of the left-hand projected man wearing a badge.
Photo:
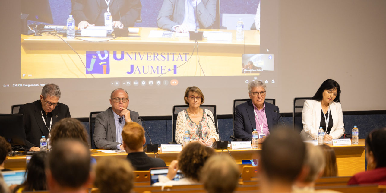
<svg viewBox="0 0 386 193">
<path fill-rule="evenodd" d="M 101 3 L 106 3 L 104 0 L 71 0 L 71 15 L 75 19 L 75 25 L 86 20 L 90 24 L 95 24 L 100 13 Z M 125 27 L 134 26 L 135 20 L 141 15 L 140 0 L 111 0 L 109 7 L 110 13 L 114 21 L 119 21 L 119 11 L 122 19 L 122 24 Z M 104 14 L 104 13 L 102 13 Z M 100 21 L 104 22 L 104 21 Z"/>
</svg>

